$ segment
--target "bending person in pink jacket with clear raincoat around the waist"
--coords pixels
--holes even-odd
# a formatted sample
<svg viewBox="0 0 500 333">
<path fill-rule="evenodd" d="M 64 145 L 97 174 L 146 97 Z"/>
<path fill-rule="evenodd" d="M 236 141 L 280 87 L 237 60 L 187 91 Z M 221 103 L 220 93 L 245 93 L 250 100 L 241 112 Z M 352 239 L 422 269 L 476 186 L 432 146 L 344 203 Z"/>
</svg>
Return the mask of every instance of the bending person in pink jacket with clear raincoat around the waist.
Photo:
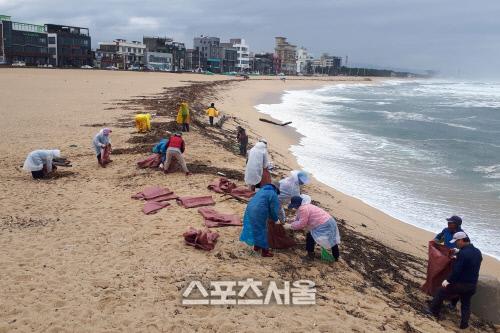
<svg viewBox="0 0 500 333">
<path fill-rule="evenodd" d="M 340 257 L 340 233 L 337 221 L 326 211 L 310 203 L 309 196 L 294 196 L 289 209 L 297 209 L 295 221 L 285 224 L 285 229 L 307 230 L 306 250 L 307 258 L 314 259 L 316 243 L 325 249 L 331 249 L 333 258 L 338 261 Z"/>
</svg>

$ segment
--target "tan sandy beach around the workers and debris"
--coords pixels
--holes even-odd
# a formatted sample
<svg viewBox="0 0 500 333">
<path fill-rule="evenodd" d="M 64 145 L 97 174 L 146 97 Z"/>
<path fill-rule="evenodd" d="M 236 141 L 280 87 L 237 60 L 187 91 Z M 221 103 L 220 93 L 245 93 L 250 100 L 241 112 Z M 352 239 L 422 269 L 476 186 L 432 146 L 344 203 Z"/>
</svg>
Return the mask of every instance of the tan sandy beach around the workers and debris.
<svg viewBox="0 0 500 333">
<path fill-rule="evenodd" d="M 215 249 L 196 250 L 186 246 L 182 237 L 189 226 L 202 227 L 196 209 L 174 203 L 155 215 L 142 213 L 142 204 L 130 196 L 146 186 L 160 185 L 181 196 L 211 194 L 217 210 L 242 216 L 243 203 L 207 190 L 217 178 L 213 170 L 244 170 L 244 158 L 219 142 L 233 142 L 234 128 L 241 124 L 250 129 L 251 143 L 267 138 L 272 159 L 284 174 L 298 167 L 288 149 L 299 136 L 290 128 L 260 122 L 258 118 L 265 116 L 254 106 L 279 101 L 284 90 L 335 84 L 250 79 L 209 86 L 228 79 L 232 78 L 0 69 L 0 332 L 455 330 L 457 323 L 451 316 L 436 322 L 421 311 L 428 298 L 417 287 L 423 282 L 422 274 L 425 277 L 422 265 L 433 235 L 319 182 L 305 191 L 344 221 L 344 242 L 351 240 L 341 248 L 348 250 L 345 260 L 334 265 L 304 263 L 304 237 L 300 234 L 297 248 L 277 250 L 274 258 L 257 257 L 238 241 L 239 227 L 218 228 Z M 147 156 L 157 139 L 154 135 L 161 133 L 160 125 L 173 121 L 176 110 L 172 103 L 176 101 L 168 94 L 173 90 L 182 94 L 182 87 L 193 83 L 206 93 L 198 96 L 194 88 L 186 95 L 198 99 L 193 103 L 195 111 L 202 111 L 199 105 L 215 102 L 230 116 L 220 131 L 198 125 L 207 119 L 195 113 L 197 122 L 184 135 L 188 164 L 205 169 L 200 167 L 188 178 L 182 173 L 164 175 L 138 169 L 136 162 Z M 149 136 L 138 134 L 133 127 L 134 113 L 142 111 L 157 114 L 153 124 L 159 130 Z M 113 129 L 111 140 L 117 153 L 113 163 L 102 169 L 91 140 L 104 126 Z M 30 151 L 45 148 L 61 149 L 73 167 L 59 170 L 53 179 L 33 181 L 20 166 Z M 373 248 L 361 248 L 357 253 L 355 241 Z M 379 272 L 367 271 L 377 263 L 361 258 L 372 250 L 376 262 L 392 265 L 390 271 L 384 271 L 388 266 Z M 383 254 L 389 259 L 381 257 Z M 481 273 L 500 277 L 500 263 L 486 257 Z M 367 280 L 370 276 L 378 278 Z M 317 285 L 317 304 L 182 305 L 182 291 L 193 280 L 249 277 L 312 280 Z M 477 318 L 472 326 L 469 330 L 473 332 L 495 330 Z"/>
</svg>

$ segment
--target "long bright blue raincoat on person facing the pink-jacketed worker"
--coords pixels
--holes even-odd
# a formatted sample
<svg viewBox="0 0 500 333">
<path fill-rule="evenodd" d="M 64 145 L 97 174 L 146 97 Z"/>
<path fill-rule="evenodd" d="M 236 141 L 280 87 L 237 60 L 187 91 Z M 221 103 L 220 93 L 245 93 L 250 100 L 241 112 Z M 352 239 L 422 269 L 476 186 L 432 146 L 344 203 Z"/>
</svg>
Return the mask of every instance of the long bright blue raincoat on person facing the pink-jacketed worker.
<svg viewBox="0 0 500 333">
<path fill-rule="evenodd" d="M 273 185 L 267 184 L 250 200 L 243 216 L 240 241 L 269 249 L 267 220 L 278 221 L 280 202 Z"/>
</svg>

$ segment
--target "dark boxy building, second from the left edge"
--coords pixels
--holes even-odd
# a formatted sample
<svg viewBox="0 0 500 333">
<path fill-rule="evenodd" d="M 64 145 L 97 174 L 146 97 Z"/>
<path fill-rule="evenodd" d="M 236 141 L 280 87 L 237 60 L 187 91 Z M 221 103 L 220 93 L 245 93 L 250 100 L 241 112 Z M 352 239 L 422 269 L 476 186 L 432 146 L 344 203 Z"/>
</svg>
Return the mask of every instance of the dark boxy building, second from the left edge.
<svg viewBox="0 0 500 333">
<path fill-rule="evenodd" d="M 88 28 L 46 24 L 49 62 L 55 67 L 81 67 L 93 64 Z"/>
</svg>

